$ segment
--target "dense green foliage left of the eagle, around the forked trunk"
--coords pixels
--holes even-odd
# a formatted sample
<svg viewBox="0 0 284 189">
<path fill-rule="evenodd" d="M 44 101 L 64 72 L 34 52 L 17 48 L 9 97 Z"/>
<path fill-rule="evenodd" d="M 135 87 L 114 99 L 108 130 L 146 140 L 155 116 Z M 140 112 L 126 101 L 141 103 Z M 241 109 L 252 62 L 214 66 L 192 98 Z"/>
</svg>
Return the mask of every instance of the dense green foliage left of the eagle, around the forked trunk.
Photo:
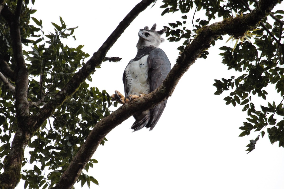
<svg viewBox="0 0 284 189">
<path fill-rule="evenodd" d="M 15 5 L 16 1 L 8 1 L 9 7 Z M 12 8 L 11 11 L 13 12 Z M 34 12 L 36 10 L 29 9 L 25 5 L 20 18 L 22 43 L 26 45 L 24 56 L 30 76 L 28 91 L 30 114 L 36 114 L 39 108 L 50 101 L 84 65 L 85 58 L 89 57 L 89 54 L 82 51 L 83 45 L 72 48 L 61 42 L 62 39 L 70 37 L 76 40 L 74 36 L 76 27 L 67 28 L 60 17 L 59 25 L 52 23 L 54 32 L 46 34 L 42 21 L 30 17 Z M 0 19 L 3 23 L 0 26 L 2 38 L 0 59 L 7 61 L 11 69 L 14 69 L 9 27 L 2 16 Z M 34 24 L 31 24 L 30 19 Z M 87 80 L 91 81 L 91 76 L 87 77 Z M 13 78 L 10 78 L 10 83 L 14 83 Z M 96 87 L 89 87 L 86 82 L 81 84 L 77 92 L 56 109 L 52 117 L 41 126 L 28 143 L 30 158 L 25 159 L 24 164 L 35 165 L 33 169 L 25 169 L 22 172 L 25 188 L 41 187 L 44 189 L 57 183 L 61 173 L 66 169 L 94 125 L 110 114 L 108 110 L 110 105 L 112 103 L 105 90 L 101 92 Z M 1 83 L 0 125 L 3 125 L 0 128 L 1 160 L 9 153 L 11 138 L 17 129 L 14 106 L 15 99 L 12 92 Z M 38 166 L 39 163 L 41 166 Z M 89 167 L 93 167 L 93 163 L 97 163 L 97 160 L 90 160 L 85 170 L 88 171 Z M 3 163 L 0 163 L 0 170 L 2 168 Z M 98 184 L 95 178 L 83 173 L 79 181 L 82 185 L 87 183 L 89 187 L 90 182 Z"/>
</svg>

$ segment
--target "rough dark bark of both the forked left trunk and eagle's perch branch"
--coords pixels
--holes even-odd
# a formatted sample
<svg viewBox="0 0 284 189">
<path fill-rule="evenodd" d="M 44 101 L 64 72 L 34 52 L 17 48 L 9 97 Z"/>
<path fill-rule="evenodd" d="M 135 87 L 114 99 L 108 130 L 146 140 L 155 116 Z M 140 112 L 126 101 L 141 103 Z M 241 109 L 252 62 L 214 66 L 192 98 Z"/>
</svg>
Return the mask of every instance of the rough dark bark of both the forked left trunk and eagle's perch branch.
<svg viewBox="0 0 284 189">
<path fill-rule="evenodd" d="M 283 1 L 283 0 L 281 0 Z M 151 94 L 145 95 L 142 98 L 135 99 L 131 103 L 127 103 L 117 109 L 115 112 L 107 116 L 98 122 L 95 128 L 91 131 L 87 137 L 85 143 L 81 146 L 80 150 L 74 156 L 72 162 L 68 168 L 62 173 L 62 176 L 54 188 L 72 188 L 73 184 L 78 179 L 83 167 L 89 161 L 97 147 L 103 140 L 103 138 L 117 125 L 121 124 L 124 120 L 129 118 L 133 113 L 137 111 L 147 110 L 154 107 L 159 102 L 167 99 L 174 88 L 176 87 L 179 79 L 189 69 L 189 67 L 195 62 L 195 60 L 202 54 L 204 50 L 207 50 L 212 41 L 217 39 L 220 35 L 229 34 L 239 36 L 247 30 L 255 28 L 262 18 L 270 14 L 271 9 L 281 1 L 277 0 L 261 0 L 258 6 L 252 10 L 251 13 L 245 16 L 239 16 L 236 18 L 229 18 L 223 22 L 218 22 L 210 26 L 205 26 L 199 29 L 198 35 L 193 42 L 189 44 L 183 53 L 178 57 L 176 64 L 166 77 L 162 85 L 154 90 Z M 0 1 L 1 2 L 1 1 Z M 18 3 L 21 1 L 18 1 Z M 15 133 L 14 140 L 7 162 L 5 163 L 5 171 L 0 175 L 0 187 L 14 188 L 20 179 L 20 170 L 23 158 L 23 149 L 27 142 L 30 140 L 32 134 L 41 126 L 41 124 L 52 115 L 54 110 L 59 107 L 65 99 L 70 97 L 85 78 L 95 71 L 95 67 L 100 65 L 105 57 L 107 51 L 120 37 L 126 27 L 134 20 L 134 18 L 147 6 L 153 3 L 154 0 L 143 0 L 137 4 L 133 10 L 120 22 L 114 32 L 108 37 L 101 48 L 94 53 L 93 57 L 82 67 L 78 73 L 66 84 L 66 86 L 42 109 L 34 116 L 28 115 L 28 103 L 26 98 L 26 89 L 28 72 L 23 60 L 21 51 L 21 43 L 19 38 L 19 31 L 16 25 L 11 25 L 13 29 L 14 39 L 18 40 L 16 44 L 13 44 L 13 52 L 15 59 L 17 58 L 17 70 L 16 70 L 16 110 L 18 118 L 18 130 Z M 4 11 L 3 8 L 1 15 L 5 17 L 7 22 L 12 22 L 12 18 L 17 18 L 20 15 L 20 8 L 17 6 L 15 15 L 9 17 L 9 11 Z M 2 14 L 5 12 L 4 14 Z M 11 14 L 10 14 L 11 16 Z M 14 17 L 15 16 L 15 17 Z M 11 29 L 10 28 L 10 29 Z M 24 78 L 21 80 L 20 78 Z M 19 94 L 18 94 L 19 93 Z M 128 116 L 125 116 L 128 115 Z"/>
</svg>

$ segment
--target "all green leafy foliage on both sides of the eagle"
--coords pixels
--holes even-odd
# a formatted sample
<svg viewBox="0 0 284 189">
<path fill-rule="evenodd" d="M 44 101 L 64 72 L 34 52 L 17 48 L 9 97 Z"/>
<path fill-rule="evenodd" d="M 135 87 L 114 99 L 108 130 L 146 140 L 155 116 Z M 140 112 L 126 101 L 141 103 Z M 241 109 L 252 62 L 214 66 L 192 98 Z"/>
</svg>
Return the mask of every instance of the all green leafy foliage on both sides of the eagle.
<svg viewBox="0 0 284 189">
<path fill-rule="evenodd" d="M 62 43 L 62 39 L 74 39 L 76 27 L 67 28 L 64 20 L 60 17 L 60 23 L 52 23 L 54 32 L 45 33 L 40 19 L 31 17 L 36 10 L 29 9 L 24 1 L 20 14 L 20 35 L 24 44 L 24 56 L 29 71 L 28 100 L 31 115 L 37 114 L 39 109 L 51 101 L 63 86 L 70 80 L 84 64 L 89 55 L 82 51 L 83 45 L 69 47 Z M 34 0 L 31 1 L 34 4 Z M 169 23 L 166 37 L 169 41 L 184 40 L 183 46 L 178 49 L 183 51 L 184 47 L 196 36 L 198 29 L 212 22 L 216 17 L 227 19 L 231 16 L 242 16 L 254 8 L 256 0 L 248 1 L 205 1 L 205 0 L 164 0 L 162 15 L 166 13 L 181 12 L 181 20 Z M 17 7 L 16 0 L 6 2 L 9 11 L 14 13 Z M 204 11 L 205 17 L 196 18 L 195 13 Z M 192 18 L 189 16 L 192 13 Z M 236 44 L 234 49 L 223 46 L 222 63 L 228 69 L 235 69 L 236 77 L 229 79 L 216 79 L 213 84 L 216 87 L 216 95 L 224 91 L 230 91 L 225 97 L 226 104 L 237 104 L 243 106 L 248 118 L 240 127 L 242 132 L 239 136 L 249 135 L 250 131 L 259 132 L 254 140 L 250 140 L 247 151 L 255 148 L 260 134 L 265 135 L 267 128 L 271 143 L 279 142 L 284 147 L 284 66 L 283 66 L 283 10 L 271 13 L 272 18 L 267 18 L 260 23 L 259 30 L 254 39 L 248 41 L 244 34 L 233 36 L 243 39 L 241 44 Z M 14 60 L 11 31 L 7 21 L 0 16 L 0 61 L 5 61 L 11 70 L 16 69 Z M 222 40 L 222 37 L 219 37 Z M 217 39 L 218 40 L 218 39 Z M 212 45 L 215 41 L 212 42 Z M 207 58 L 208 52 L 204 51 L 201 58 Z M 0 67 L 2 73 L 3 68 Z M 4 71 L 3 71 L 4 72 Z M 5 75 L 9 84 L 15 86 L 13 75 Z M 88 76 L 87 80 L 91 81 Z M 254 99 L 260 97 L 266 100 L 268 90 L 266 88 L 275 86 L 282 100 L 267 102 L 256 106 Z M 17 125 L 15 98 L 13 91 L 1 82 L 0 84 L 0 170 L 3 169 L 7 155 L 11 149 Z M 267 92 L 268 91 L 268 92 Z M 94 125 L 103 117 L 110 114 L 109 107 L 112 105 L 110 97 L 105 90 L 100 91 L 96 87 L 89 87 L 83 82 L 77 92 L 66 99 L 28 143 L 30 157 L 25 158 L 23 165 L 30 163 L 33 169 L 22 170 L 22 179 L 25 180 L 25 188 L 47 188 L 58 182 L 61 173 L 66 169 L 73 156 L 85 141 Z M 116 104 L 114 104 L 116 105 Z M 276 119 L 277 116 L 277 119 Z M 269 126 L 270 125 L 270 126 Z M 267 127 L 269 126 L 269 127 Z M 101 144 L 104 145 L 106 139 Z M 85 165 L 85 171 L 93 167 L 97 160 L 91 159 Z M 77 182 L 81 186 L 87 183 L 98 184 L 98 181 L 85 173 L 81 173 Z"/>
</svg>

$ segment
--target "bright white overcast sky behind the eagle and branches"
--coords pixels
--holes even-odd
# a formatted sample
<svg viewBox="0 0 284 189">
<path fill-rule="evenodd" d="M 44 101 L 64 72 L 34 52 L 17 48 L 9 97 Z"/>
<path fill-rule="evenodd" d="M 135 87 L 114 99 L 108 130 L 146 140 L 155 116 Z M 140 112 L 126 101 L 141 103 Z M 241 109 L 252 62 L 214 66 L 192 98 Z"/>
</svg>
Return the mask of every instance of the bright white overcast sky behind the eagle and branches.
<svg viewBox="0 0 284 189">
<path fill-rule="evenodd" d="M 69 47 L 83 44 L 82 50 L 92 55 L 138 2 L 37 0 L 33 8 L 38 10 L 34 17 L 43 20 L 46 34 L 54 31 L 50 22 L 60 25 L 59 16 L 68 27 L 79 26 L 74 32 L 77 40 L 70 38 L 65 43 Z M 121 57 L 122 61 L 102 63 L 101 69 L 92 75 L 90 87 L 105 89 L 109 94 L 114 90 L 124 91 L 122 73 L 128 61 L 136 55 L 139 29 L 156 23 L 160 30 L 168 26 L 168 22 L 181 20 L 178 14 L 160 16 L 160 5 L 159 1 L 153 8 L 147 8 L 126 29 L 107 54 Z M 188 23 L 191 23 L 191 18 L 189 14 Z M 191 24 L 187 27 L 192 29 Z M 100 186 L 91 184 L 91 188 L 283 187 L 283 148 L 276 143 L 271 145 L 266 133 L 257 142 L 256 149 L 246 154 L 245 146 L 259 133 L 238 137 L 246 113 L 241 112 L 242 107 L 225 105 L 223 99 L 229 92 L 214 95 L 214 79 L 240 75 L 227 71 L 227 67 L 221 64 L 218 48 L 230 45 L 224 44 L 225 41 L 212 46 L 208 58 L 198 59 L 185 73 L 153 131 L 141 129 L 132 133 L 130 126 L 134 118 L 131 117 L 106 136 L 105 146 L 99 146 L 93 156 L 99 163 L 87 173 L 95 177 Z M 172 66 L 178 57 L 178 46 L 180 43 L 167 40 L 160 45 Z M 268 99 L 272 102 L 274 96 Z M 256 108 L 260 108 L 259 105 Z M 23 188 L 23 184 L 20 182 L 17 188 Z M 81 183 L 75 188 L 81 188 Z"/>
</svg>

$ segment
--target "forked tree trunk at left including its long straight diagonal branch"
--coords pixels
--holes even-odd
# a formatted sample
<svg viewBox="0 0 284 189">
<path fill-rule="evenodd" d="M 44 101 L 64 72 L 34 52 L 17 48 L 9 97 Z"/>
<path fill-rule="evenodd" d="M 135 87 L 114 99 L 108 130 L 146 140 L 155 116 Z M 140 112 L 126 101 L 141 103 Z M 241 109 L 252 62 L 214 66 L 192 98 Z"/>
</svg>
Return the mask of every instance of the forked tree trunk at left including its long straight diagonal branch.
<svg viewBox="0 0 284 189">
<path fill-rule="evenodd" d="M 41 126 L 41 124 L 49 118 L 55 109 L 60 106 L 70 95 L 72 95 L 80 84 L 89 76 L 95 67 L 101 64 L 110 47 L 117 41 L 124 30 L 138 16 L 140 12 L 145 10 L 155 0 L 143 0 L 138 3 L 130 13 L 120 22 L 118 27 L 103 43 L 101 48 L 94 53 L 93 57 L 83 65 L 82 69 L 72 77 L 72 79 L 55 95 L 39 112 L 34 116 L 29 116 L 27 88 L 28 88 L 28 70 L 24 62 L 22 54 L 22 43 L 20 38 L 20 30 L 18 25 L 18 15 L 20 14 L 20 5 L 17 5 L 15 15 L 12 14 L 8 6 L 4 6 L 1 15 L 6 19 L 10 27 L 12 38 L 12 49 L 14 60 L 16 61 L 16 115 L 18 117 L 18 130 L 15 133 L 12 142 L 11 151 L 7 162 L 5 163 L 4 173 L 0 175 L 0 185 L 4 188 L 14 188 L 20 179 L 20 170 L 23 160 L 23 150 L 30 140 L 32 134 Z M 80 173 L 79 173 L 80 174 Z M 77 175 L 77 173 L 76 173 Z M 77 177 L 78 178 L 78 177 Z M 75 182 L 76 179 L 73 179 Z M 59 182 L 58 186 L 63 188 L 72 188 L 74 182 Z M 62 185 L 63 184 L 63 185 Z"/>
</svg>

